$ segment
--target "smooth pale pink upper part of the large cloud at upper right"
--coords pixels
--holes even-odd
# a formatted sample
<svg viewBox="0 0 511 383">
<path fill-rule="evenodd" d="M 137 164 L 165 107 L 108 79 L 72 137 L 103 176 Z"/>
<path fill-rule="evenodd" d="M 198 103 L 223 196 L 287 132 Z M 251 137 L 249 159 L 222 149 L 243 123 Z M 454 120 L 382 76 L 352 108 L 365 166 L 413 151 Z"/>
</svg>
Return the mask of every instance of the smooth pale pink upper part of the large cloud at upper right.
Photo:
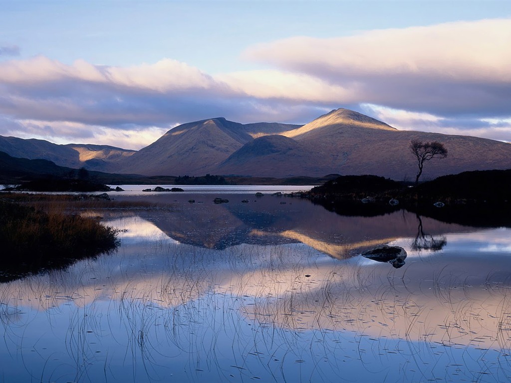
<svg viewBox="0 0 511 383">
<path fill-rule="evenodd" d="M 417 75 L 451 80 L 511 80 L 511 19 L 374 30 L 350 37 L 293 37 L 245 55 L 287 69 L 345 76 Z"/>
</svg>

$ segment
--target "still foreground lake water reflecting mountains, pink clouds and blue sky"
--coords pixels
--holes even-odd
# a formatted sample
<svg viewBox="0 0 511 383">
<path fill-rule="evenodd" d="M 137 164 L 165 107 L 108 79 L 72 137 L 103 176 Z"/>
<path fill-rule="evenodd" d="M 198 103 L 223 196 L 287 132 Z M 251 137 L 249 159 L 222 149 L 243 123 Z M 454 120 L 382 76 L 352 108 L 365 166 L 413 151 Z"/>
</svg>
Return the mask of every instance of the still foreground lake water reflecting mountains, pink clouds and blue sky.
<svg viewBox="0 0 511 383">
<path fill-rule="evenodd" d="M 134 190 L 112 195 L 155 207 L 84 212 L 122 245 L 0 284 L 0 381 L 511 379 L 508 228 L 253 191 Z M 406 264 L 359 255 L 379 244 Z"/>
</svg>

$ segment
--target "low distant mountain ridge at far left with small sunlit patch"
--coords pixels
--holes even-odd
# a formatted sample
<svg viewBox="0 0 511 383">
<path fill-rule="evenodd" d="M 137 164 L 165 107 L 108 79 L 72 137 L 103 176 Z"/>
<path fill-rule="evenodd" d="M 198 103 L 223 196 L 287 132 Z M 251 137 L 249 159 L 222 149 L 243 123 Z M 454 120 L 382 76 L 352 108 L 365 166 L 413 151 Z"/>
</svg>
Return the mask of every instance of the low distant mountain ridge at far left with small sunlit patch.
<svg viewBox="0 0 511 383">
<path fill-rule="evenodd" d="M 69 143 L 57 145 L 42 139 L 22 139 L 0 136 L 0 151 L 12 157 L 45 159 L 59 166 L 85 167 L 89 170 L 108 171 L 117 161 L 129 157 L 136 151 L 108 145 Z"/>
</svg>

